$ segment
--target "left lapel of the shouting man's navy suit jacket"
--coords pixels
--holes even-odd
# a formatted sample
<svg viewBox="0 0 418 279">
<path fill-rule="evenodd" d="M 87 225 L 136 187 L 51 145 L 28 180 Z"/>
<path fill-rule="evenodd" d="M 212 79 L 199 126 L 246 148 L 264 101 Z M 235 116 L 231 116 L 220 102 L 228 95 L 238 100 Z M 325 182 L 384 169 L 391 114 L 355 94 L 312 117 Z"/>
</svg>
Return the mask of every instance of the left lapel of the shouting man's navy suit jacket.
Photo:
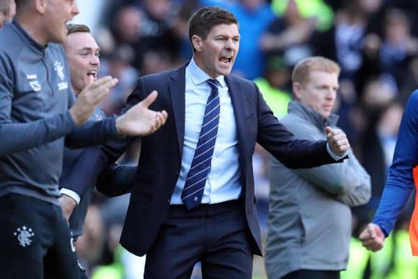
<svg viewBox="0 0 418 279">
<path fill-rule="evenodd" d="M 180 148 L 180 159 L 183 156 L 183 142 L 185 139 L 185 69 L 186 65 L 175 70 L 173 75 L 171 75 L 171 82 L 169 83 L 171 105 L 173 106 L 173 116 Z"/>
</svg>

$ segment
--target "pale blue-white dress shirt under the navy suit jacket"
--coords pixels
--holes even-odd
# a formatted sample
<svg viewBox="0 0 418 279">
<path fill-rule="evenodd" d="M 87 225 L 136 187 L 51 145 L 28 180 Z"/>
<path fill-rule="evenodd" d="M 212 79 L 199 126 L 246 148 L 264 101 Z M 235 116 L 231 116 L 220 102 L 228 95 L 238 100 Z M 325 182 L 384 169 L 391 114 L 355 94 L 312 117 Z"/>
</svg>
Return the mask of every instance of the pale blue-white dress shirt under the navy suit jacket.
<svg viewBox="0 0 418 279">
<path fill-rule="evenodd" d="M 203 123 L 211 77 L 203 72 L 194 59 L 186 67 L 185 86 L 185 139 L 180 176 L 171 197 L 171 204 L 183 204 L 181 193 L 194 157 Z M 211 168 L 203 192 L 203 204 L 217 204 L 238 199 L 241 193 L 240 165 L 238 162 L 238 137 L 235 115 L 224 76 L 219 75 L 219 127 L 213 151 Z"/>
</svg>

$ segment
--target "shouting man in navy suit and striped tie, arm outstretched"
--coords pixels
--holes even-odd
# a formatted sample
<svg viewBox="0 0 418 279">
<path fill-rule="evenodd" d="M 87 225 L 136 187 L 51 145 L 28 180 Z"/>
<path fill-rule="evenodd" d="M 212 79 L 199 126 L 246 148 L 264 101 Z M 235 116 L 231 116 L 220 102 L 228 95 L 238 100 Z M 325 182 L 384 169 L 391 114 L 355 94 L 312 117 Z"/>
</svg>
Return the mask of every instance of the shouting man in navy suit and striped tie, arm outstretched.
<svg viewBox="0 0 418 279">
<path fill-rule="evenodd" d="M 146 254 L 145 278 L 251 278 L 261 237 L 251 165 L 256 142 L 286 167 L 336 163 L 350 145 L 327 127 L 327 141 L 296 140 L 273 116 L 253 82 L 229 75 L 238 54 L 238 22 L 201 8 L 189 20 L 194 56 L 187 65 L 146 75 L 127 107 L 158 91 L 152 110 L 167 123 L 141 143 L 121 244 Z M 104 147 L 116 160 L 130 139 Z"/>
</svg>

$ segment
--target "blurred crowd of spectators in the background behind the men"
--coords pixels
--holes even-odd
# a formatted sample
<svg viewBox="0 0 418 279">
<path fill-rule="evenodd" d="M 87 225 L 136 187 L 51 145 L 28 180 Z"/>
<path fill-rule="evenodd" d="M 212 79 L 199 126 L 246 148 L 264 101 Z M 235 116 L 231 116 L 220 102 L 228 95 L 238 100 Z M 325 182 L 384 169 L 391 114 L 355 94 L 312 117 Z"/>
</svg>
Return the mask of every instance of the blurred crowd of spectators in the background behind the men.
<svg viewBox="0 0 418 279">
<path fill-rule="evenodd" d="M 353 151 L 369 172 L 372 197 L 353 210 L 353 245 L 343 278 L 417 278 L 403 235 L 412 211 L 405 208 L 393 241 L 373 257 L 358 246 L 359 229 L 371 221 L 392 163 L 403 106 L 418 88 L 418 1 L 410 0 L 121 0 L 106 3 L 99 28 L 100 76 L 119 80 L 101 107 L 121 110 L 140 75 L 176 68 L 191 56 L 187 20 L 201 6 L 222 6 L 240 22 L 240 52 L 233 72 L 254 80 L 274 114 L 286 114 L 292 99 L 291 70 L 297 61 L 321 55 L 341 66 L 335 112 Z M 88 13 L 88 11 L 86 11 Z M 121 160 L 137 162 L 140 143 Z M 258 213 L 265 234 L 268 213 L 268 153 L 257 148 L 254 172 Z M 77 251 L 91 278 L 140 278 L 144 259 L 118 246 L 127 195 L 96 194 Z M 405 244 L 406 243 L 406 244 Z M 332 243 L 330 243 L 332 245 Z M 353 264 L 353 260 L 356 260 Z M 197 266 L 198 267 L 198 266 Z M 265 278 L 256 258 L 254 278 Z M 199 278 L 196 268 L 195 278 Z"/>
</svg>

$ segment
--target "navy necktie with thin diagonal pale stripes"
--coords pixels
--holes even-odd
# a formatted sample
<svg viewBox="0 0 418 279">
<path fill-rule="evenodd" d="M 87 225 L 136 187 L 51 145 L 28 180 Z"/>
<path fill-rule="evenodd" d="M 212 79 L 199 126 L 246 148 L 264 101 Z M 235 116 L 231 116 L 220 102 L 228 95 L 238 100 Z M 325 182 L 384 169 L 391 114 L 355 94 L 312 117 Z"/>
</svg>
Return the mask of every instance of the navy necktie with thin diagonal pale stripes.
<svg viewBox="0 0 418 279">
<path fill-rule="evenodd" d="M 203 190 L 205 189 L 206 179 L 210 172 L 210 165 L 212 161 L 213 149 L 215 149 L 215 142 L 217 130 L 219 125 L 219 93 L 217 89 L 218 81 L 215 79 L 207 80 L 212 91 L 208 102 L 206 103 L 205 115 L 203 116 L 203 123 L 199 140 L 197 142 L 196 150 L 192 165 L 187 174 L 185 187 L 181 194 L 183 204 L 188 210 L 201 204 L 203 197 Z"/>
</svg>

